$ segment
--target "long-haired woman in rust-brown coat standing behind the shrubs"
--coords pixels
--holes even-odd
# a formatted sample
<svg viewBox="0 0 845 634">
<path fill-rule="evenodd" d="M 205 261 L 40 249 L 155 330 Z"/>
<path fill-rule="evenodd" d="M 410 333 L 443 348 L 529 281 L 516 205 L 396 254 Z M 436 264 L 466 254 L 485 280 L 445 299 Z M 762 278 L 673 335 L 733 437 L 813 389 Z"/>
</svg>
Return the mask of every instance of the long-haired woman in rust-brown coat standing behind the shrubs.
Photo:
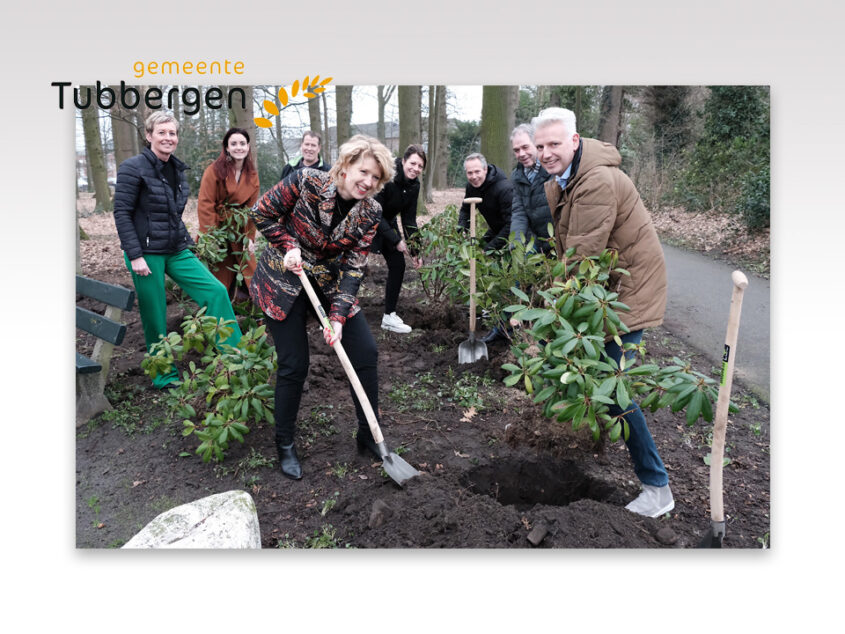
<svg viewBox="0 0 845 634">
<path fill-rule="evenodd" d="M 252 160 L 249 133 L 230 128 L 223 136 L 223 150 L 202 175 L 197 216 L 200 233 L 223 225 L 237 207 L 252 207 L 258 200 L 258 172 Z M 244 246 L 244 235 L 249 239 Z M 227 245 L 226 259 L 212 266 L 212 273 L 237 301 L 249 298 L 249 283 L 255 273 L 255 223 L 247 220 L 244 235 Z M 238 283 L 240 271 L 243 279 Z"/>
</svg>

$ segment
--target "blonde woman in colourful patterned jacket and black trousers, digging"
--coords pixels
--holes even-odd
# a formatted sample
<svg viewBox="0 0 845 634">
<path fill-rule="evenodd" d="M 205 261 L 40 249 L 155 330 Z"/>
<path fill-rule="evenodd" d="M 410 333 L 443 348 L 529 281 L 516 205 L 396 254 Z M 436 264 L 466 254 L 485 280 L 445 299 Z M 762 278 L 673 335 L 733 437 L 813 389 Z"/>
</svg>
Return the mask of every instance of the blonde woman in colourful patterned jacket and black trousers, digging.
<svg viewBox="0 0 845 634">
<path fill-rule="evenodd" d="M 310 168 L 295 172 L 267 191 L 252 208 L 256 227 L 268 246 L 259 259 L 250 292 L 267 316 L 278 355 L 276 374 L 276 448 L 282 473 L 300 479 L 294 444 L 302 387 L 308 374 L 305 323 L 313 308 L 298 277 L 305 271 L 331 322 L 326 343 L 343 340 L 373 411 L 378 412 L 378 350 L 358 306 L 367 254 L 381 207 L 373 197 L 393 178 L 389 150 L 372 137 L 356 135 L 344 143 L 328 173 Z M 355 392 L 359 453 L 381 459 Z"/>
</svg>

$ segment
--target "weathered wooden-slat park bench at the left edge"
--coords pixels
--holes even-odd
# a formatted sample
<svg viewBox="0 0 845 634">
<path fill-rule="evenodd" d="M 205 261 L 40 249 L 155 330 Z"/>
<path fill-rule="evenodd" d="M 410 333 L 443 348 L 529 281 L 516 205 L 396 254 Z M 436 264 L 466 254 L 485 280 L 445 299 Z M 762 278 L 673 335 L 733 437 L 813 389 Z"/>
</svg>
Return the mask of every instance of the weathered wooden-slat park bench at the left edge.
<svg viewBox="0 0 845 634">
<path fill-rule="evenodd" d="M 76 293 L 106 305 L 103 315 L 76 307 L 76 327 L 97 337 L 90 357 L 76 353 L 76 426 L 79 427 L 100 412 L 113 409 L 103 390 L 114 346 L 120 345 L 126 335 L 126 324 L 119 320 L 123 311 L 135 304 L 135 291 L 77 275 Z"/>
</svg>

